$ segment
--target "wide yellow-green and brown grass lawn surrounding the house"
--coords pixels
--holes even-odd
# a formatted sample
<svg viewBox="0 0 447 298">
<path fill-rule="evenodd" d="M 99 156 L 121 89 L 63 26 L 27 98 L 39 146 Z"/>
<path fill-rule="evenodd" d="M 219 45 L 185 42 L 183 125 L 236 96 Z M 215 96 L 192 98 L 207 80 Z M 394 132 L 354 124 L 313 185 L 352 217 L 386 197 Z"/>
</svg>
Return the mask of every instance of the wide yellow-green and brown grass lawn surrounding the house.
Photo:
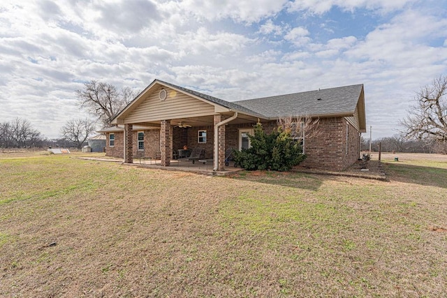
<svg viewBox="0 0 447 298">
<path fill-rule="evenodd" d="M 0 297 L 447 297 L 447 161 L 382 160 L 389 181 L 2 154 Z"/>
</svg>

